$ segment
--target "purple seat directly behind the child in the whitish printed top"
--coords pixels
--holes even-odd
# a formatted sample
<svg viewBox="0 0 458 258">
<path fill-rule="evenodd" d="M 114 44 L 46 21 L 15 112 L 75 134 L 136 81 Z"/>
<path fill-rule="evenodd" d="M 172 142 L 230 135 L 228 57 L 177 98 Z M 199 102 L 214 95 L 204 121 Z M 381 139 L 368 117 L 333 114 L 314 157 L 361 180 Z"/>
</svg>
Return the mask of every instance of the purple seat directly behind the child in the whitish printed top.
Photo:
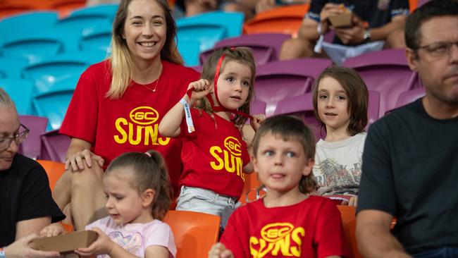
<svg viewBox="0 0 458 258">
<path fill-rule="evenodd" d="M 368 124 L 366 126 L 366 130 L 369 128 L 369 125 L 379 118 L 379 102 L 380 93 L 370 90 L 369 106 L 367 111 Z M 278 102 L 275 114 L 292 114 L 294 116 L 298 116 L 306 125 L 309 126 L 317 141 L 326 137 L 326 131 L 324 128 L 320 128 L 318 120 L 316 120 L 311 92 L 294 97 L 287 97 L 286 99 Z"/>
</svg>

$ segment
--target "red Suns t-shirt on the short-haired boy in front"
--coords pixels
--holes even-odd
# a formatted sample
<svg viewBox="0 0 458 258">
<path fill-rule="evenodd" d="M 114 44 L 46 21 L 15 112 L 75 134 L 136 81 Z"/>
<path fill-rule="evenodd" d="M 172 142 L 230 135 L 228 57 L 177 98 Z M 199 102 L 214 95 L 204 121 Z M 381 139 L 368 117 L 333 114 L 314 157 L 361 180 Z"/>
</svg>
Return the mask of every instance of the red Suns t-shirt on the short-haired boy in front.
<svg viewBox="0 0 458 258">
<path fill-rule="evenodd" d="M 310 196 L 287 207 L 263 199 L 234 211 L 221 242 L 234 257 L 347 256 L 340 212 L 332 200 Z"/>
</svg>

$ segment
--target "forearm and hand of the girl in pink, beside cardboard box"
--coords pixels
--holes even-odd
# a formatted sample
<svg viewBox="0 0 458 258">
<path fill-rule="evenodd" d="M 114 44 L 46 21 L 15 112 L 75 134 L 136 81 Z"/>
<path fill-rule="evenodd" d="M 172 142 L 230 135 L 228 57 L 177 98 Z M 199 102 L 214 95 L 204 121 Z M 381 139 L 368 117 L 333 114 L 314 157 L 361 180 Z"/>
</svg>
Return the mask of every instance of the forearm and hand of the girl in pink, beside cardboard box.
<svg viewBox="0 0 458 258">
<path fill-rule="evenodd" d="M 91 228 L 91 230 L 97 232 L 97 240 L 89 245 L 89 247 L 78 248 L 78 250 L 75 250 L 76 254 L 83 257 L 94 254 L 109 254 L 111 258 L 137 258 L 137 256 L 131 254 L 127 250 L 124 250 L 123 247 L 120 247 L 120 245 L 111 241 L 111 239 L 105 235 L 100 228 Z"/>
</svg>

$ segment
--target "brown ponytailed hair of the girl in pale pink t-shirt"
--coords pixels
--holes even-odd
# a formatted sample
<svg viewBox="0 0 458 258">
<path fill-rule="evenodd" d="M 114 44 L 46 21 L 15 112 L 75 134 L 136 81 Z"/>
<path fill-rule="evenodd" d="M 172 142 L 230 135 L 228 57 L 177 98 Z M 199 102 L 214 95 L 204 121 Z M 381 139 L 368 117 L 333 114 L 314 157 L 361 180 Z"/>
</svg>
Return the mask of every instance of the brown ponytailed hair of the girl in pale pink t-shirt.
<svg viewBox="0 0 458 258">
<path fill-rule="evenodd" d="M 130 182 L 132 188 L 137 189 L 139 193 L 148 189 L 156 192 L 151 205 L 151 214 L 154 219 L 162 220 L 171 206 L 172 188 L 166 162 L 161 154 L 154 150 L 149 150 L 147 153 L 127 152 L 121 154 L 111 161 L 104 176 L 113 173 L 114 168 L 128 166 L 132 167 L 134 172 L 133 180 Z"/>
</svg>

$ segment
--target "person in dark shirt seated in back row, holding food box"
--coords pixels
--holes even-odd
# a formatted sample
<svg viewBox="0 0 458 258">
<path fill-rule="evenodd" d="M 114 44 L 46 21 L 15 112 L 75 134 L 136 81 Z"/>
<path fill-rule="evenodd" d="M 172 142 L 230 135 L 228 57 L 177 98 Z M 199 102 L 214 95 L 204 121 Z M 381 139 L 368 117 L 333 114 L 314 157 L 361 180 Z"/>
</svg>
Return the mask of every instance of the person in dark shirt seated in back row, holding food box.
<svg viewBox="0 0 458 258">
<path fill-rule="evenodd" d="M 330 27 L 329 16 L 345 9 L 354 13 L 352 26 Z M 335 32 L 335 44 L 355 46 L 383 40 L 385 48 L 403 48 L 402 33 L 408 12 L 408 0 L 311 0 L 297 38 L 283 42 L 280 59 L 316 56 L 318 38 L 331 29 Z"/>
</svg>

